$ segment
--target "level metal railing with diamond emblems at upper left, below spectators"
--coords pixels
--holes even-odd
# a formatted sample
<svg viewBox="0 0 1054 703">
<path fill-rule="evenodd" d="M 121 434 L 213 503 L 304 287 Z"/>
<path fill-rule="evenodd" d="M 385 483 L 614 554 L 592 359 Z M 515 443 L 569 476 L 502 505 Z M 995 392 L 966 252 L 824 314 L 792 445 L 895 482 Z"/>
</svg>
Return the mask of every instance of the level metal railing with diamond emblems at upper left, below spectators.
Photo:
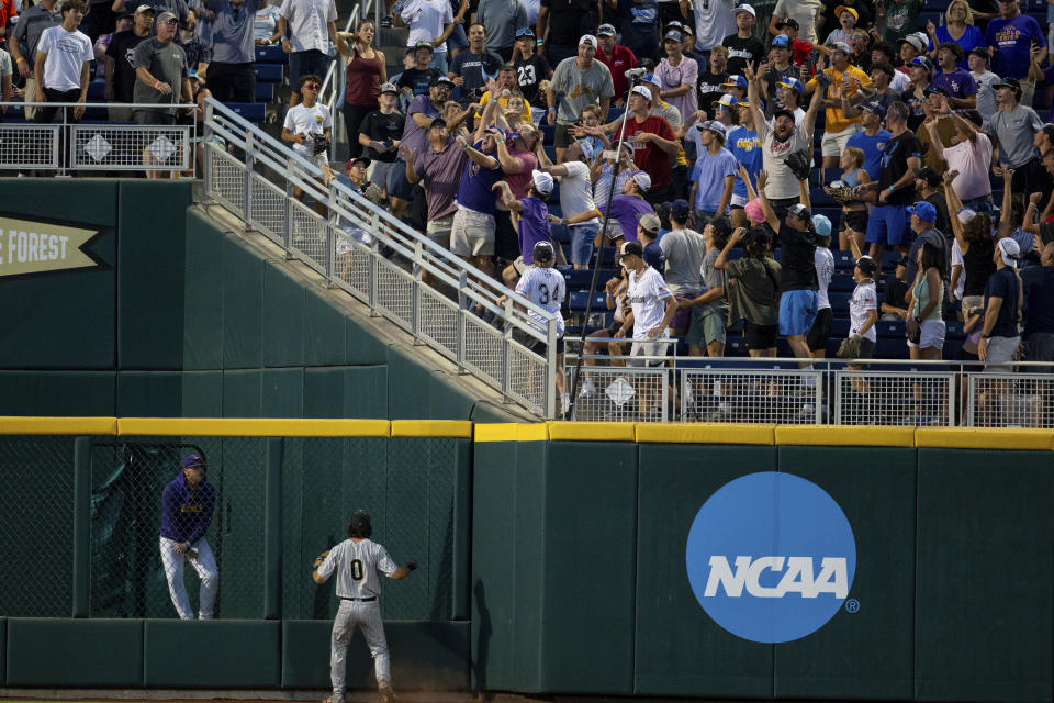
<svg viewBox="0 0 1054 703">
<path fill-rule="evenodd" d="M 198 144 L 195 122 L 178 125 L 139 125 L 110 122 L 74 122 L 71 108 L 154 108 L 138 103 L 7 102 L 8 121 L 0 122 L 0 170 L 69 175 L 76 172 L 161 171 L 171 178 L 194 177 Z M 24 105 L 60 108 L 56 122 L 12 122 L 13 110 Z M 193 104 L 173 105 L 180 111 Z"/>
</svg>

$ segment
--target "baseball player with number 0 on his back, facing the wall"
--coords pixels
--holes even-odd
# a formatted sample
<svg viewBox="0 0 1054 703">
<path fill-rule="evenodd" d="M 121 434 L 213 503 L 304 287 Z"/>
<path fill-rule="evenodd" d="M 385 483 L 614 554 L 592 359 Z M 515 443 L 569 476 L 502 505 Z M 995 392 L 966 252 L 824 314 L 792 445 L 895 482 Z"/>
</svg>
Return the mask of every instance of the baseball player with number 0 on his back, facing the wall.
<svg viewBox="0 0 1054 703">
<path fill-rule="evenodd" d="M 325 551 L 315 559 L 312 578 L 322 584 L 337 574 L 337 598 L 340 607 L 333 622 L 330 639 L 329 678 L 333 682 L 333 695 L 326 703 L 344 703 L 345 661 L 348 644 L 356 627 L 362 628 L 366 644 L 373 655 L 373 670 L 377 688 L 384 703 L 395 701 L 392 691 L 391 660 L 388 654 L 388 639 L 384 637 L 384 623 L 381 622 L 380 574 L 400 580 L 417 568 L 417 561 L 411 559 L 404 567 L 396 567 L 388 550 L 370 540 L 373 527 L 370 516 L 356 511 L 348 523 L 348 538 Z"/>
</svg>

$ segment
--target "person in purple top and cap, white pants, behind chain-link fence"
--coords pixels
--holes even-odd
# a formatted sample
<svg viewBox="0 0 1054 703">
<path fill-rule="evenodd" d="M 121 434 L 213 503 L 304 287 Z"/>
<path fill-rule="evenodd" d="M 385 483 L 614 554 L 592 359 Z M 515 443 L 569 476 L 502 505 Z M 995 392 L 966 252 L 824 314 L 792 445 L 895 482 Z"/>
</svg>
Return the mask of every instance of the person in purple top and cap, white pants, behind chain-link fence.
<svg viewBox="0 0 1054 703">
<path fill-rule="evenodd" d="M 165 486 L 161 493 L 161 563 L 168 579 L 172 605 L 182 620 L 193 620 L 194 612 L 187 599 L 183 566 L 189 561 L 201 579 L 198 616 L 212 620 L 220 588 L 220 569 L 205 533 L 212 523 L 216 505 L 216 489 L 205 480 L 205 459 L 189 454 L 182 470 Z"/>
</svg>

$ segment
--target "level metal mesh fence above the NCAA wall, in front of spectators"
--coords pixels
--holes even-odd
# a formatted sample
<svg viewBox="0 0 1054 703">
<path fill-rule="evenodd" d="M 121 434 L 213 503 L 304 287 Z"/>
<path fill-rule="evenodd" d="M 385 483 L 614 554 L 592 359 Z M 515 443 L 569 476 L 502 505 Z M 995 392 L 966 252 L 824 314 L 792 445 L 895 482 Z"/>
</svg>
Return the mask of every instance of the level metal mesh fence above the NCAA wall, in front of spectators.
<svg viewBox="0 0 1054 703">
<path fill-rule="evenodd" d="M 569 388 L 579 357 L 567 355 Z M 583 356 L 571 420 L 1054 427 L 1054 365 Z"/>
</svg>

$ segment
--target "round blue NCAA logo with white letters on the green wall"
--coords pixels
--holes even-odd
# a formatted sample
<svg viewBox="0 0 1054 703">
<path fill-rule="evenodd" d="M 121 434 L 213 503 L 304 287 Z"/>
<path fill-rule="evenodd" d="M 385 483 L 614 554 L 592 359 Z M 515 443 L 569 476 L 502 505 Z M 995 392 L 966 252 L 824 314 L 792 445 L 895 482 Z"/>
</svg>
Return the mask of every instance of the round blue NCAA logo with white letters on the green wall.
<svg viewBox="0 0 1054 703">
<path fill-rule="evenodd" d="M 842 607 L 856 572 L 853 529 L 827 491 L 778 471 L 722 486 L 688 532 L 692 591 L 743 639 L 790 641 Z"/>
</svg>

